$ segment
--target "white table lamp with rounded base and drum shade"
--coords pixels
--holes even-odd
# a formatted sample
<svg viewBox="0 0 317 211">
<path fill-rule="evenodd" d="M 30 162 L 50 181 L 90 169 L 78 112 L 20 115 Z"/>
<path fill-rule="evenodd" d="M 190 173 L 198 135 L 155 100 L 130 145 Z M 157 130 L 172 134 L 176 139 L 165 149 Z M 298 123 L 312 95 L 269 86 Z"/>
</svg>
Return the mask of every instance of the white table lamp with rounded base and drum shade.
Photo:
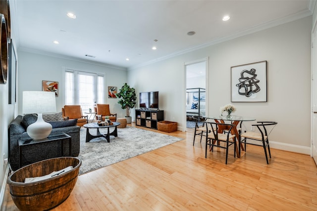
<svg viewBox="0 0 317 211">
<path fill-rule="evenodd" d="M 38 114 L 35 123 L 27 127 L 26 132 L 34 140 L 46 138 L 52 131 L 52 125 L 43 120 L 42 113 L 56 112 L 55 92 L 23 91 L 23 114 Z"/>
</svg>

